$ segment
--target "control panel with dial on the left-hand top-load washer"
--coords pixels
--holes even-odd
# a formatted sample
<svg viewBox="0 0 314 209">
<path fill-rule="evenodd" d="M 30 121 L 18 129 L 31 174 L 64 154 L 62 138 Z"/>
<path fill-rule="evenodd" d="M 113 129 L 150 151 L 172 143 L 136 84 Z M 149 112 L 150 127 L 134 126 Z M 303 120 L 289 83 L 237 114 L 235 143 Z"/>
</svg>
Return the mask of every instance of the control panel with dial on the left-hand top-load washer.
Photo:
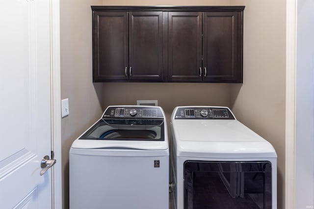
<svg viewBox="0 0 314 209">
<path fill-rule="evenodd" d="M 160 107 L 109 106 L 103 118 L 163 118 Z"/>
</svg>

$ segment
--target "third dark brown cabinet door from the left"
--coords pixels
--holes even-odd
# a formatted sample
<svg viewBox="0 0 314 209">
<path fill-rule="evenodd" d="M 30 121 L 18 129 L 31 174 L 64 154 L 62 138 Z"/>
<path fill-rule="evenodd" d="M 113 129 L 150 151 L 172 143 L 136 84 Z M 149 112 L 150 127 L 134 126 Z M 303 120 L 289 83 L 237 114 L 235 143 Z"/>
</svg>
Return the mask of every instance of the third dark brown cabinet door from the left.
<svg viewBox="0 0 314 209">
<path fill-rule="evenodd" d="M 168 80 L 202 80 L 202 12 L 168 14 Z"/>
</svg>

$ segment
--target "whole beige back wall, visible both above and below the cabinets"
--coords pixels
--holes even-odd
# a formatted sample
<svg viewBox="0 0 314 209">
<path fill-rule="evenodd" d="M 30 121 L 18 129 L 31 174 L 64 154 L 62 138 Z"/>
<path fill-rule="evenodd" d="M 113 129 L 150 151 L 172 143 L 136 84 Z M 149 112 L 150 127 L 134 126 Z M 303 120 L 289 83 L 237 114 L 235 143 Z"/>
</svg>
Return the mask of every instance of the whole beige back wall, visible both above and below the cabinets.
<svg viewBox="0 0 314 209">
<path fill-rule="evenodd" d="M 229 4 L 230 0 L 102 0 L 102 5 L 130 6 L 225 6 Z M 129 91 L 130 89 L 132 91 Z M 120 97 L 112 93 L 120 94 Z M 105 83 L 103 98 L 105 106 L 108 104 L 136 104 L 136 100 L 158 100 L 158 105 L 166 113 L 168 124 L 172 110 L 179 105 L 229 106 L 230 104 L 227 84 L 209 83 Z"/>
</svg>

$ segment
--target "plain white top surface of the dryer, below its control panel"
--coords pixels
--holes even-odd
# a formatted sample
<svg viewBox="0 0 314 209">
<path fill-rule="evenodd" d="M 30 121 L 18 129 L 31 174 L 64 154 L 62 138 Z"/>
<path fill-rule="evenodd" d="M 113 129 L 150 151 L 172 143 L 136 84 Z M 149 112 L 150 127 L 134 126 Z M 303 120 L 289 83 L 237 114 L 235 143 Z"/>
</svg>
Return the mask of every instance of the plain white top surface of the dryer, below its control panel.
<svg viewBox="0 0 314 209">
<path fill-rule="evenodd" d="M 236 119 L 172 117 L 171 128 L 178 157 L 277 157 L 268 141 Z"/>
</svg>

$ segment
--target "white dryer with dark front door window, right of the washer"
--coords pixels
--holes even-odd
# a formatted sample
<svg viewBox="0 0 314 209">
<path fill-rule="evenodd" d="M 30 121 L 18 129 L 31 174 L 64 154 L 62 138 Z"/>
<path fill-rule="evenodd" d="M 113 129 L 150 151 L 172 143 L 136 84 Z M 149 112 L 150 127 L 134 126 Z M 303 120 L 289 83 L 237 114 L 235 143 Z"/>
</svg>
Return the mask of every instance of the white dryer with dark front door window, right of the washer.
<svg viewBox="0 0 314 209">
<path fill-rule="evenodd" d="M 175 209 L 277 208 L 276 152 L 228 107 L 176 107 L 171 128 Z"/>
</svg>

